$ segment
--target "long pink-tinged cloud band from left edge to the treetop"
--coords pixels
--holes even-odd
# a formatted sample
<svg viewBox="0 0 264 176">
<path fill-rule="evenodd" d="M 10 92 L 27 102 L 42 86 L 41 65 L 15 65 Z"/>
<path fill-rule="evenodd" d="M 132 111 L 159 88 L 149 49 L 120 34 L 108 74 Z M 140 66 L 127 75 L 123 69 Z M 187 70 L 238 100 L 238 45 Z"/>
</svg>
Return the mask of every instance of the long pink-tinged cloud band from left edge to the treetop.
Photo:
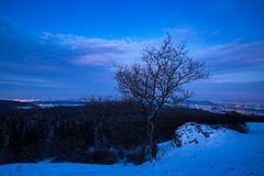
<svg viewBox="0 0 264 176">
<path fill-rule="evenodd" d="M 0 66 L 18 69 L 53 72 L 62 65 L 106 66 L 114 62 L 140 58 L 144 46 L 152 41 L 135 38 L 89 38 L 74 34 L 41 35 L 0 20 Z"/>
</svg>

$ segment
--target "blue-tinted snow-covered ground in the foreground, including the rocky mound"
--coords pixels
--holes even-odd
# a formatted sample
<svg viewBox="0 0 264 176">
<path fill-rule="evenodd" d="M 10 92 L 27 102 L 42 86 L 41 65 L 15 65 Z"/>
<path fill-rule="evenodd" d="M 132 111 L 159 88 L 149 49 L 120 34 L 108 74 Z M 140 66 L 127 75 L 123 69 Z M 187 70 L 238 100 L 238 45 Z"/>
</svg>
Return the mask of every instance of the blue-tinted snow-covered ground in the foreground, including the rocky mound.
<svg viewBox="0 0 264 176">
<path fill-rule="evenodd" d="M 158 160 L 132 164 L 9 164 L 0 176 L 263 176 L 264 123 L 248 123 L 249 133 L 186 123 L 177 130 L 183 146 L 160 144 Z"/>
</svg>

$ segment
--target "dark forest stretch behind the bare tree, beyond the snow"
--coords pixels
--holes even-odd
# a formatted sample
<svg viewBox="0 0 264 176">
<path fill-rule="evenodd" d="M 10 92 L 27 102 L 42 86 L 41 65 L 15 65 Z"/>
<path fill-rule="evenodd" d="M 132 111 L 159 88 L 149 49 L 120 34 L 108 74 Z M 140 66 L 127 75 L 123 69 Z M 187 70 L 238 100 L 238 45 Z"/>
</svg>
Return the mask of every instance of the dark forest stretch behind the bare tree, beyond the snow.
<svg viewBox="0 0 264 176">
<path fill-rule="evenodd" d="M 211 113 L 165 107 L 155 120 L 155 141 L 175 138 L 185 122 L 221 124 L 245 132 L 244 122 L 261 117 Z M 0 109 L 0 164 L 37 162 L 81 162 L 141 164 L 148 160 L 147 122 L 132 102 L 92 101 L 79 107 Z"/>
</svg>

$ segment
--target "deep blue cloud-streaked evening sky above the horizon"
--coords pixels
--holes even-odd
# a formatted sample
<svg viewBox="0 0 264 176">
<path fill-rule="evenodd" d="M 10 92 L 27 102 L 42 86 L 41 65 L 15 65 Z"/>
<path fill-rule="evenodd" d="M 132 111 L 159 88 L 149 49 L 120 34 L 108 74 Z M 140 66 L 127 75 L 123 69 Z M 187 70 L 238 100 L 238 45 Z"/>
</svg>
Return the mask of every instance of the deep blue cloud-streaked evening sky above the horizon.
<svg viewBox="0 0 264 176">
<path fill-rule="evenodd" d="M 114 64 L 169 33 L 209 79 L 194 99 L 264 102 L 264 1 L 0 0 L 0 99 L 118 95 Z"/>
</svg>

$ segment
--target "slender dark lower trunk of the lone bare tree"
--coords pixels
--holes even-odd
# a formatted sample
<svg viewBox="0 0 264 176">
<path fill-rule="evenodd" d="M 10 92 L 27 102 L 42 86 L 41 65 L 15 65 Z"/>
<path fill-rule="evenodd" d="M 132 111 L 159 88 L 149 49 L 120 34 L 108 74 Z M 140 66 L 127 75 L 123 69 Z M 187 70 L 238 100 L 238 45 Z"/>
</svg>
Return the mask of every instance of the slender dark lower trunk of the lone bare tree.
<svg viewBox="0 0 264 176">
<path fill-rule="evenodd" d="M 148 140 L 150 140 L 152 160 L 156 160 L 156 153 L 157 153 L 157 146 L 154 141 L 154 131 L 155 131 L 155 124 L 150 119 L 147 122 L 147 134 L 148 134 Z"/>
</svg>

